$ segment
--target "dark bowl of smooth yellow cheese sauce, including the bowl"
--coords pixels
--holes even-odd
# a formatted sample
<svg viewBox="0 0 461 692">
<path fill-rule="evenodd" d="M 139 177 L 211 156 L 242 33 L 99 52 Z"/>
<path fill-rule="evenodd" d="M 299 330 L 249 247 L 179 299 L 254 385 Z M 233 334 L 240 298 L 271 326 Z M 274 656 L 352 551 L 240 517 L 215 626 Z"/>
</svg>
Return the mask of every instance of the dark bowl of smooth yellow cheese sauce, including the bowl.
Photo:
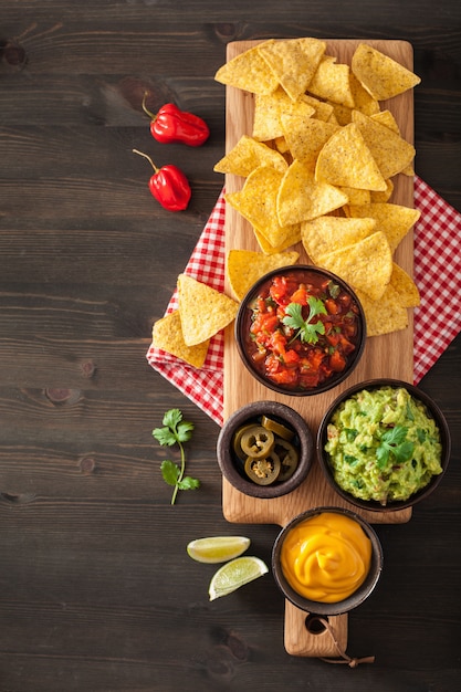
<svg viewBox="0 0 461 692">
<path fill-rule="evenodd" d="M 371 594 L 381 570 L 383 548 L 374 528 L 342 507 L 298 514 L 282 528 L 272 549 L 279 589 L 311 615 L 356 608 Z"/>
</svg>

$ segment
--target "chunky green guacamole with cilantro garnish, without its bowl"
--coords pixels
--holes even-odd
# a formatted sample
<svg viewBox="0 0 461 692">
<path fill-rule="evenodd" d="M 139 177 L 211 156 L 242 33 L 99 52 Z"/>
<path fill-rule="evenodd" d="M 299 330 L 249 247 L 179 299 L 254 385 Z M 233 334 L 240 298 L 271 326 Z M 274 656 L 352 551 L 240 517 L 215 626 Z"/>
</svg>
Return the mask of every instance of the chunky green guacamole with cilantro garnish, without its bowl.
<svg viewBox="0 0 461 692">
<path fill-rule="evenodd" d="M 405 388 L 364 389 L 344 401 L 325 451 L 339 487 L 381 505 L 408 500 L 442 472 L 440 431 Z"/>
</svg>

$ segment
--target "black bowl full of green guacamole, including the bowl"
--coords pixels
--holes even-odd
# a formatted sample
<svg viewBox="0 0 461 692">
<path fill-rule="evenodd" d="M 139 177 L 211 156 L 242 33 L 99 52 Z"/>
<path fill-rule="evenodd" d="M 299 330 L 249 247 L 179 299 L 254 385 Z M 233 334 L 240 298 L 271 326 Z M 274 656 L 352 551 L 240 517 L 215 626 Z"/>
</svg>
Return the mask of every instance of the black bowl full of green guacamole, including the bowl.
<svg viewBox="0 0 461 692">
<path fill-rule="evenodd" d="M 450 459 L 442 411 L 422 390 L 374 379 L 344 391 L 317 431 L 317 458 L 327 482 L 356 507 L 402 510 L 428 497 Z"/>
</svg>

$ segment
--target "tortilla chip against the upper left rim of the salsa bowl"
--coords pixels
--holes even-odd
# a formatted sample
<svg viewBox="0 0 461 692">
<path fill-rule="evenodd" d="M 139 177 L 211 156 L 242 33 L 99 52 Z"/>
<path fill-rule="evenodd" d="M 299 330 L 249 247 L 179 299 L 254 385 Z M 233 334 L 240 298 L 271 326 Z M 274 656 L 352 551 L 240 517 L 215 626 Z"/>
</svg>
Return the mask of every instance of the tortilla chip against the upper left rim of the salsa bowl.
<svg viewBox="0 0 461 692">
<path fill-rule="evenodd" d="M 266 255 L 251 250 L 231 250 L 227 272 L 237 300 L 241 301 L 261 276 L 274 269 L 295 264 L 298 258 L 300 253 L 295 251 Z"/>
</svg>

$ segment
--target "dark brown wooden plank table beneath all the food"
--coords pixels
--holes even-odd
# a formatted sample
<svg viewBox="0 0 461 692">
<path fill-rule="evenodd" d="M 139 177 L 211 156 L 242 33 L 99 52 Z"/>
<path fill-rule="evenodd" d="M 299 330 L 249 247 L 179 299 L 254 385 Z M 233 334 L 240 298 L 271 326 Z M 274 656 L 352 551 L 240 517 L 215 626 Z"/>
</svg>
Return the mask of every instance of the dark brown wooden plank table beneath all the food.
<svg viewBox="0 0 461 692">
<path fill-rule="evenodd" d="M 224 521 L 219 428 L 145 357 L 221 190 L 227 43 L 410 41 L 416 169 L 461 209 L 459 2 L 1 4 L 0 691 L 460 690 L 461 338 L 421 382 L 451 427 L 451 464 L 408 524 L 377 527 L 384 575 L 348 625 L 348 652 L 376 662 L 354 671 L 285 652 L 271 575 L 209 602 L 214 566 L 187 543 L 241 533 L 270 560 L 279 528 Z M 153 107 L 206 118 L 207 145 L 155 143 L 146 88 Z M 150 197 L 134 147 L 190 177 L 186 212 Z M 170 506 L 151 430 L 174 407 L 196 426 L 202 485 Z"/>
</svg>

